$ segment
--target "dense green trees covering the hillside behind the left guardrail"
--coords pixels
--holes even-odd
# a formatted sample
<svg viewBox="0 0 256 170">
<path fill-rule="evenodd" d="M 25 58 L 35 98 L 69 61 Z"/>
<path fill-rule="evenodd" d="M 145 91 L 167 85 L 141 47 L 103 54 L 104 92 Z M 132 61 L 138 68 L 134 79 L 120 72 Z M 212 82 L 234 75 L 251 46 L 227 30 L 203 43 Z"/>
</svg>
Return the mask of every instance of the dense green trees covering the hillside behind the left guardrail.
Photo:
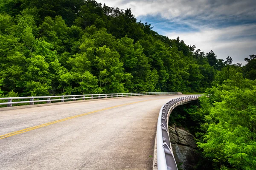
<svg viewBox="0 0 256 170">
<path fill-rule="evenodd" d="M 4 96 L 203 92 L 225 64 L 194 50 L 93 0 L 0 3 Z"/>
</svg>

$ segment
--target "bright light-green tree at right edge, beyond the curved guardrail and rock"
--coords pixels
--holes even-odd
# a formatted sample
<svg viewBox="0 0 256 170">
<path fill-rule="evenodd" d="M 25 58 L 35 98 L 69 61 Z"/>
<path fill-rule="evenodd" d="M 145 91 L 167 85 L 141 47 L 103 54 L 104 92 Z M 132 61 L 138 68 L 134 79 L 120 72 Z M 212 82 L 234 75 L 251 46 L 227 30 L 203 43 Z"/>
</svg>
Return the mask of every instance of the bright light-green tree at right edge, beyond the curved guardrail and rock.
<svg viewBox="0 0 256 170">
<path fill-rule="evenodd" d="M 256 82 L 244 79 L 230 68 L 223 84 L 207 90 L 208 99 L 201 105 L 209 112 L 205 116 L 206 133 L 198 147 L 217 168 L 253 170 L 256 168 Z M 232 168 L 233 167 L 233 168 Z"/>
</svg>

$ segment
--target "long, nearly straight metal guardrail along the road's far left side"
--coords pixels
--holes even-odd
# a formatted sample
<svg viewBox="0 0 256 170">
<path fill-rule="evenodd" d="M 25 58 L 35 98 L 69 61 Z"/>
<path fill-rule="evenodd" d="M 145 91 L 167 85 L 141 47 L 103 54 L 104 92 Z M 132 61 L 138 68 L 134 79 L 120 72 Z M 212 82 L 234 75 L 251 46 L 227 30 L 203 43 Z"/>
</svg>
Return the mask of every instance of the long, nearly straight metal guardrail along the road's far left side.
<svg viewBox="0 0 256 170">
<path fill-rule="evenodd" d="M 164 95 L 164 94 L 178 94 L 178 92 L 148 92 L 148 93 L 117 93 L 117 94 L 82 94 L 82 95 L 67 95 L 67 96 L 31 96 L 31 97 L 6 97 L 0 98 L 0 100 L 7 100 L 7 102 L 0 102 L 0 105 L 7 105 L 7 107 L 12 107 L 13 104 L 29 103 L 34 105 L 35 102 L 47 102 L 66 100 L 76 101 L 78 99 L 101 99 L 101 98 L 112 98 L 112 97 L 126 97 L 126 96 L 144 96 L 144 95 Z M 52 99 L 60 98 L 60 99 Z M 29 99 L 28 101 L 13 102 L 15 99 Z M 38 99 L 38 100 L 34 100 Z M 40 100 L 42 99 L 42 100 Z"/>
</svg>

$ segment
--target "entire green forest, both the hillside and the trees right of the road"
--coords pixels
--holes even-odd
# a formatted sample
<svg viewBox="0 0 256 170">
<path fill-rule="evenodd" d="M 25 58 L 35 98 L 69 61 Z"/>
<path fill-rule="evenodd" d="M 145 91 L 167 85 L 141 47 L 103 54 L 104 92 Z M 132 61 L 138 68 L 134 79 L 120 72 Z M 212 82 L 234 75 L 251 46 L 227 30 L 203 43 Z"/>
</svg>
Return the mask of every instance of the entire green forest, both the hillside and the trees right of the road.
<svg viewBox="0 0 256 170">
<path fill-rule="evenodd" d="M 0 2 L 0 97 L 207 94 L 182 119 L 194 121 L 212 169 L 256 169 L 256 55 L 244 60 L 218 59 L 94 0 Z"/>
</svg>

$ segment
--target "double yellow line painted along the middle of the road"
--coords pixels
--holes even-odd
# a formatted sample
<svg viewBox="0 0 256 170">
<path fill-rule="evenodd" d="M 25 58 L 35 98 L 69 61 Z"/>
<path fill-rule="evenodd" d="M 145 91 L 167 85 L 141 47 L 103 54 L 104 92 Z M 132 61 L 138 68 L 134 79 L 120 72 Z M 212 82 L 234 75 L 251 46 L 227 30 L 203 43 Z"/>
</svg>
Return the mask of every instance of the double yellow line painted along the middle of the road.
<svg viewBox="0 0 256 170">
<path fill-rule="evenodd" d="M 159 98 L 159 99 L 166 99 L 166 98 L 167 97 Z M 26 129 L 18 130 L 18 131 L 12 132 L 12 133 L 7 133 L 5 135 L 1 135 L 0 139 L 4 139 L 4 138 L 14 136 L 14 135 L 17 135 L 17 134 L 20 134 L 20 133 L 28 132 L 30 130 L 38 129 L 40 127 L 49 126 L 49 125 L 52 125 L 52 124 L 55 124 L 55 123 L 58 123 L 58 122 L 63 122 L 63 121 L 66 121 L 66 120 L 70 120 L 70 119 L 74 119 L 74 118 L 77 118 L 77 117 L 85 116 L 85 115 L 88 115 L 88 114 L 91 114 L 91 113 L 105 111 L 105 110 L 109 110 L 109 109 L 113 109 L 113 108 L 118 108 L 118 107 L 125 106 L 125 105 L 132 105 L 132 104 L 140 103 L 140 102 L 148 102 L 148 101 L 151 101 L 151 100 L 158 100 L 158 99 L 148 99 L 148 100 L 143 100 L 143 101 L 139 101 L 139 102 L 131 102 L 131 103 L 123 104 L 123 105 L 116 105 L 116 106 L 112 106 L 112 107 L 109 107 L 109 108 L 100 109 L 100 110 L 97 110 L 97 111 L 91 111 L 91 112 L 88 112 L 88 113 L 82 113 L 82 114 L 78 114 L 78 115 L 75 115 L 75 116 L 70 116 L 70 117 L 67 117 L 67 118 L 64 118 L 64 119 L 55 120 L 53 122 L 48 122 L 48 123 L 45 123 L 45 124 L 42 124 L 42 125 L 37 125 L 37 126 L 29 127 L 29 128 L 26 128 Z"/>
</svg>

